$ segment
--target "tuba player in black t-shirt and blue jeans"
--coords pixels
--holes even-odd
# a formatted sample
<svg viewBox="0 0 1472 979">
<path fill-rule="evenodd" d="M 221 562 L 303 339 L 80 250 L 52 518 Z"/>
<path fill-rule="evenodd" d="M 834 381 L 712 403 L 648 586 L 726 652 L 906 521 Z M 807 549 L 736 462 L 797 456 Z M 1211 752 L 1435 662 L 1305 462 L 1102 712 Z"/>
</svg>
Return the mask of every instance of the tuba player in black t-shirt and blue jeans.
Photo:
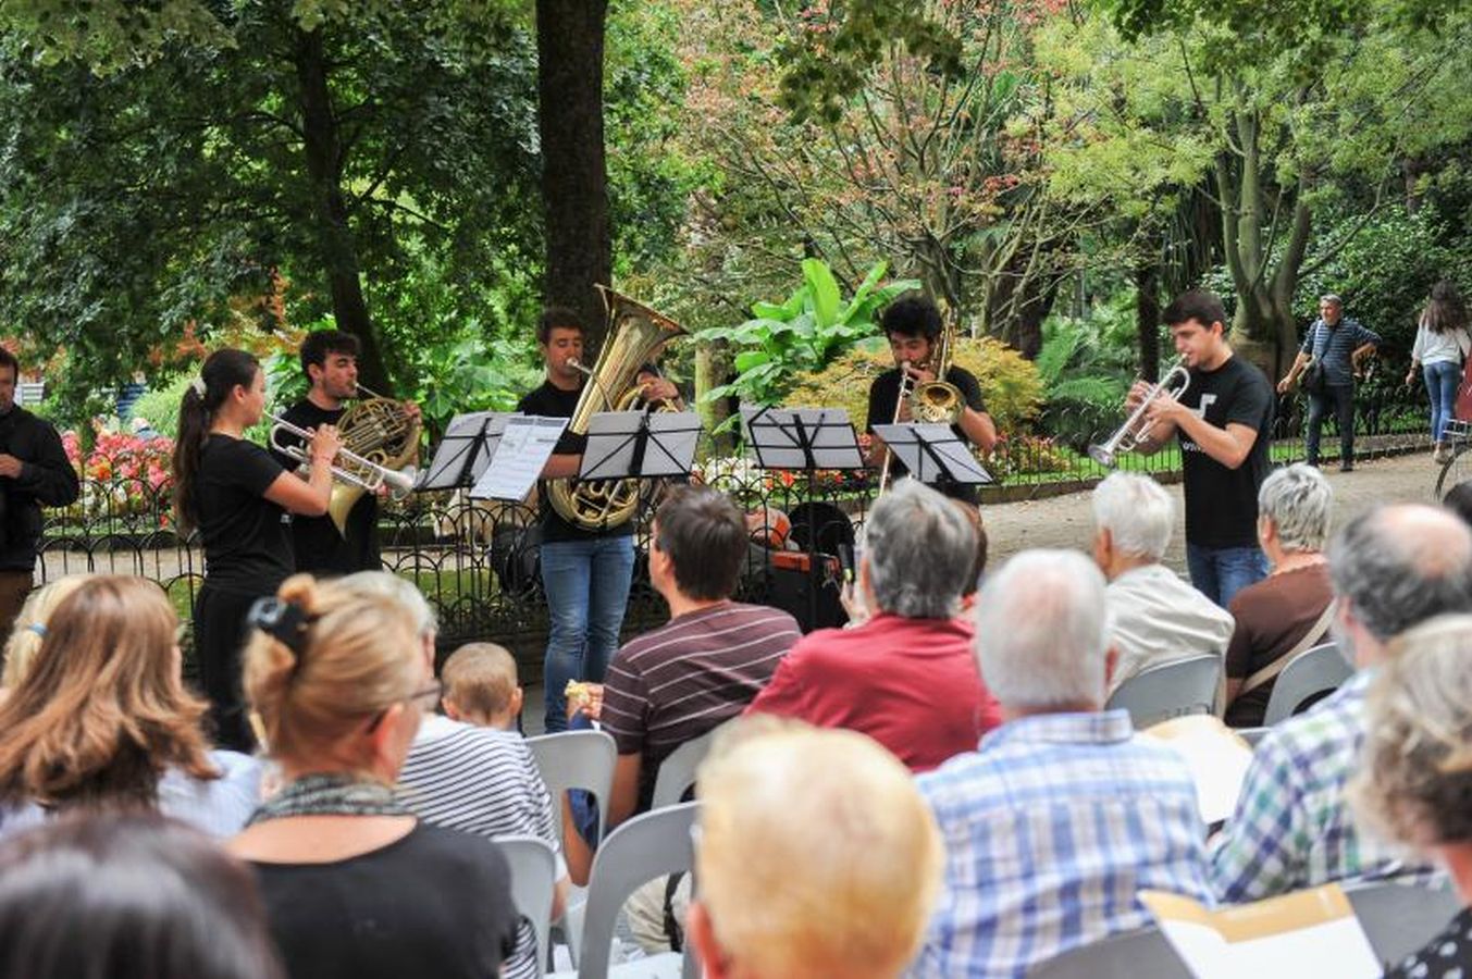
<svg viewBox="0 0 1472 979">
<path fill-rule="evenodd" d="M 546 380 L 517 405 L 517 411 L 543 418 L 571 418 L 583 393 L 583 321 L 571 309 L 553 306 L 542 314 L 537 346 Z M 617 397 L 617 392 L 611 392 Z M 648 399 L 674 399 L 674 384 L 662 378 L 645 383 Z M 606 411 L 612 411 L 608 406 Z M 542 470 L 548 480 L 576 477 L 587 436 L 564 431 Z M 562 690 L 568 680 L 602 682 L 618 649 L 629 584 L 634 568 L 634 521 L 605 530 L 586 530 L 562 520 L 542 499 L 542 586 L 548 596 L 548 649 L 543 673 L 546 730 L 567 727 Z"/>
</svg>

